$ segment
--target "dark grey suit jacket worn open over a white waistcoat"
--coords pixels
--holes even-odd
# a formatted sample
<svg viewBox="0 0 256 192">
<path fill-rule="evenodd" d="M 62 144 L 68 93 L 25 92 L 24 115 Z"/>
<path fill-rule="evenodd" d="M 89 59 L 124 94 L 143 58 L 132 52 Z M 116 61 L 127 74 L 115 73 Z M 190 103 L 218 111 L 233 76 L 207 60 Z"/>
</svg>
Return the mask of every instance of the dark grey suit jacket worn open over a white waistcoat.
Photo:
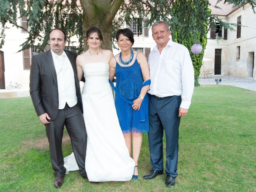
<svg viewBox="0 0 256 192">
<path fill-rule="evenodd" d="M 83 112 L 82 97 L 76 70 L 76 54 L 64 50 L 74 70 L 76 96 Z M 58 114 L 58 83 L 51 50 L 34 55 L 30 68 L 30 96 L 38 116 L 48 113 L 51 120 Z M 68 88 L 67 88 L 68 89 Z"/>
</svg>

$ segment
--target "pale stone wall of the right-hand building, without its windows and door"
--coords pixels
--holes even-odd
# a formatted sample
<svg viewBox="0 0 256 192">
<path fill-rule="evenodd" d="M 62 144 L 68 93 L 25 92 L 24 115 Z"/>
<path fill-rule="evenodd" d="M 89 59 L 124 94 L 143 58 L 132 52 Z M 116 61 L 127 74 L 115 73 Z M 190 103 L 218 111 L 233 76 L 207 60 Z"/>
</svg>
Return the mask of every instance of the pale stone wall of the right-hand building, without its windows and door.
<svg viewBox="0 0 256 192">
<path fill-rule="evenodd" d="M 204 68 L 201 68 L 201 74 L 205 70 L 210 71 L 210 76 L 214 76 L 214 57 L 215 49 L 222 49 L 221 58 L 221 74 L 238 76 L 238 77 L 254 77 L 256 79 L 256 14 L 254 14 L 252 7 L 246 4 L 245 9 L 239 8 L 228 16 L 219 16 L 224 21 L 229 23 L 236 23 L 237 17 L 241 16 L 242 27 L 241 37 L 236 38 L 236 30 L 228 30 L 228 39 L 219 40 L 208 39 L 204 58 L 212 61 L 204 62 Z M 236 27 L 234 27 L 236 29 Z M 223 36 L 222 30 L 222 36 Z M 208 33 L 210 38 L 210 32 Z M 237 47 L 240 46 L 240 59 L 236 59 Z M 252 69 L 252 55 L 254 54 L 254 70 Z M 202 76 L 202 75 L 201 75 Z"/>
</svg>

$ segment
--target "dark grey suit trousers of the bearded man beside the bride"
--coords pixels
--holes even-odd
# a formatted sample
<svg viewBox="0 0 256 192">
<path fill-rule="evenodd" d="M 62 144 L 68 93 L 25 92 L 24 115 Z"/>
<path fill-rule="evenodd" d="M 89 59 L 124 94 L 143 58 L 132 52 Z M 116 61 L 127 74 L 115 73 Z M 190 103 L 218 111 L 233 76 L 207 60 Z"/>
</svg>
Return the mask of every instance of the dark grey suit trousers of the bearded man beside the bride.
<svg viewBox="0 0 256 192">
<path fill-rule="evenodd" d="M 49 141 L 50 158 L 54 175 L 64 176 L 66 173 L 62 154 L 62 137 L 65 125 L 68 135 L 70 136 L 80 174 L 87 176 L 85 170 L 87 134 L 84 125 L 84 117 L 78 104 L 71 108 L 66 104 L 64 109 L 58 110 L 58 115 L 55 120 L 48 121 L 50 124 L 46 124 L 46 135 Z"/>
</svg>

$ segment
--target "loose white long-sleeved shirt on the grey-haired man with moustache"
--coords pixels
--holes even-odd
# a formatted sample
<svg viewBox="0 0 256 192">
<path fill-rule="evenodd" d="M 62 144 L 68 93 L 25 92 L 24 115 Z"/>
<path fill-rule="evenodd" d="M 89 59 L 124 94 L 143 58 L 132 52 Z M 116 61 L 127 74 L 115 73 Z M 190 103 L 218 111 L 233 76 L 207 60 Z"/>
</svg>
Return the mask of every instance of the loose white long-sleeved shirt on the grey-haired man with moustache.
<svg viewBox="0 0 256 192">
<path fill-rule="evenodd" d="M 148 58 L 151 95 L 181 95 L 181 108 L 188 109 L 194 91 L 194 68 L 188 49 L 171 39 L 161 54 L 156 45 Z"/>
</svg>

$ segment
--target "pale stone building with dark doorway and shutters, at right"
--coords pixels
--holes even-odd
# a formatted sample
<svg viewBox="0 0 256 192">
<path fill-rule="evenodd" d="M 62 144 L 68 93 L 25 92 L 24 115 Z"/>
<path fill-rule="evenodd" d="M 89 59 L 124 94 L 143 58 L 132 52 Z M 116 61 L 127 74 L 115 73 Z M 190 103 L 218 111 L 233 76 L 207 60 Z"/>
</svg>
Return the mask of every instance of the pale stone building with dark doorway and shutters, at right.
<svg viewBox="0 0 256 192">
<path fill-rule="evenodd" d="M 212 5 L 216 0 L 210 0 Z M 256 80 L 256 14 L 250 4 L 233 7 L 223 2 L 217 4 L 222 9 L 210 7 L 212 14 L 225 22 L 237 23 L 242 26 L 230 31 L 216 24 L 208 32 L 208 40 L 204 51 L 203 66 L 200 76 L 203 78 L 214 75 L 228 75 L 254 78 Z"/>
</svg>

